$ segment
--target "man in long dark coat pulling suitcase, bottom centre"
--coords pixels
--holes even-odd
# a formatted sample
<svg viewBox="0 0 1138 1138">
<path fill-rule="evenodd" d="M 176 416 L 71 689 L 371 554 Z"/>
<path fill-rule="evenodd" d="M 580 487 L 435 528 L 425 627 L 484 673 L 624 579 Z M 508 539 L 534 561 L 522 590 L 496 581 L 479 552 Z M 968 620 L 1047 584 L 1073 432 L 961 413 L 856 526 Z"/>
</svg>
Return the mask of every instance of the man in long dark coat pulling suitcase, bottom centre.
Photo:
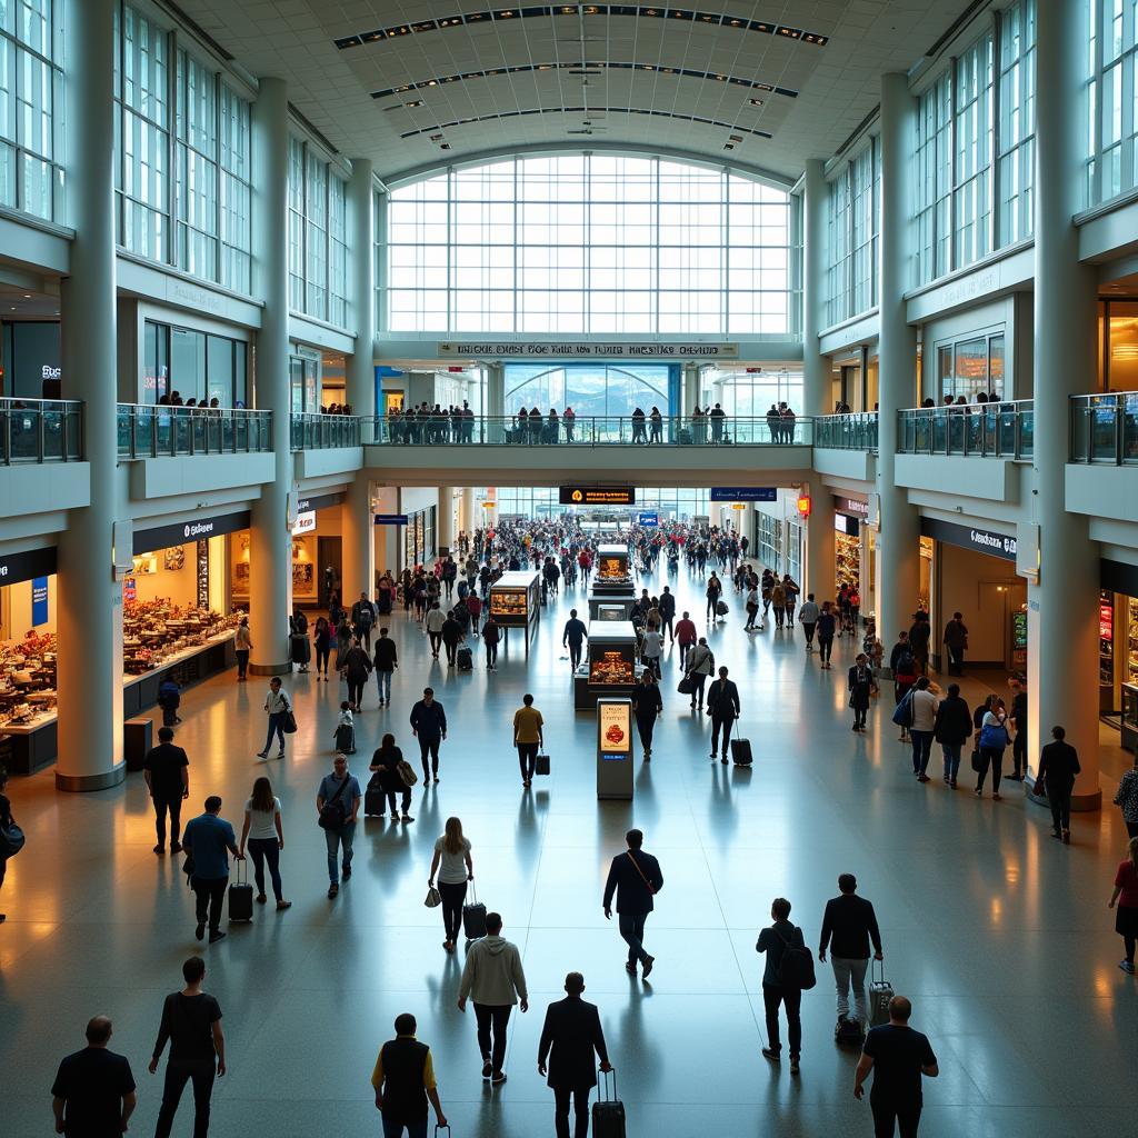
<svg viewBox="0 0 1138 1138">
<path fill-rule="evenodd" d="M 588 1138 L 588 1096 L 596 1086 L 593 1053 L 601 1059 L 601 1070 L 611 1071 L 609 1052 L 604 1046 L 601 1016 L 595 1004 L 580 998 L 585 978 L 579 972 L 566 976 L 566 998 L 545 1009 L 542 1041 L 537 1046 L 537 1072 L 545 1074 L 550 1061 L 547 1082 L 553 1088 L 553 1124 L 556 1138 L 569 1138 L 569 1099 L 572 1099 L 574 1138 Z"/>
</svg>

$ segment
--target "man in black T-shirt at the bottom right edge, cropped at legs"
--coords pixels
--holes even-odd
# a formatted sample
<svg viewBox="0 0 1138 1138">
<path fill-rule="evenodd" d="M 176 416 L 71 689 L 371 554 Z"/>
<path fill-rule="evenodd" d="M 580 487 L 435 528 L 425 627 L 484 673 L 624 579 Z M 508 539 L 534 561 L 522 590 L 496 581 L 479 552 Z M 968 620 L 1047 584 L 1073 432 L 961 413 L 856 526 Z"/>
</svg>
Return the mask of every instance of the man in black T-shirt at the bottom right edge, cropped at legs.
<svg viewBox="0 0 1138 1138">
<path fill-rule="evenodd" d="M 873 1072 L 869 1108 L 876 1138 L 917 1138 L 923 1095 L 922 1077 L 940 1074 L 929 1038 L 909 1026 L 913 1005 L 905 996 L 889 1001 L 889 1023 L 874 1028 L 865 1039 L 853 1074 L 853 1097 L 860 1102 L 864 1083 Z"/>
</svg>

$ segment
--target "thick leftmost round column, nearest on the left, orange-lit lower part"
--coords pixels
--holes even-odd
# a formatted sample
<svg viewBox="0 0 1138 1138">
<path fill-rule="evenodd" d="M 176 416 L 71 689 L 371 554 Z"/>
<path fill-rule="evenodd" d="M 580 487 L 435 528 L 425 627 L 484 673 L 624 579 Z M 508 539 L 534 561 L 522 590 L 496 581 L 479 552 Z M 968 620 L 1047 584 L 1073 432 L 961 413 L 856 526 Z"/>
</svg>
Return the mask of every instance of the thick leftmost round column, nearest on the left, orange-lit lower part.
<svg viewBox="0 0 1138 1138">
<path fill-rule="evenodd" d="M 118 504 L 115 431 L 114 0 L 71 0 L 67 34 L 82 46 L 68 66 L 68 213 L 75 228 L 61 289 L 67 397 L 83 399 L 91 504 L 59 537 L 60 790 L 122 782 L 123 587 L 115 580 Z M 130 541 L 127 536 L 125 538 Z M 119 560 L 132 550 L 119 550 Z"/>
</svg>

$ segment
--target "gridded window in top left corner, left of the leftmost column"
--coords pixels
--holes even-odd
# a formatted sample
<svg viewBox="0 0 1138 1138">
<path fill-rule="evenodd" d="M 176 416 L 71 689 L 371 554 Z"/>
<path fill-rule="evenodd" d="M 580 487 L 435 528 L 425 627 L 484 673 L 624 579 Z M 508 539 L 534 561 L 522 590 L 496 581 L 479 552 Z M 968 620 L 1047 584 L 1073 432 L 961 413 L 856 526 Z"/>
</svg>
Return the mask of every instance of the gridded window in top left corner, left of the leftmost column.
<svg viewBox="0 0 1138 1138">
<path fill-rule="evenodd" d="M 61 14 L 0 0 L 0 206 L 65 222 Z"/>
</svg>

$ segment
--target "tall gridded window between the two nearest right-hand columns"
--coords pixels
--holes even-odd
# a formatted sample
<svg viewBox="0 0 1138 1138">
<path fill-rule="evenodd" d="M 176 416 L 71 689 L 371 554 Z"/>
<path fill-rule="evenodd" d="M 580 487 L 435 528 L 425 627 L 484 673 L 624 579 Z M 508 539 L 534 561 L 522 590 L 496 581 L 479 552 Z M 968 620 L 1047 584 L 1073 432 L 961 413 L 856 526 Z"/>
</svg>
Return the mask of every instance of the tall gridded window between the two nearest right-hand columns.
<svg viewBox="0 0 1138 1138">
<path fill-rule="evenodd" d="M 916 284 L 1031 236 L 1036 2 L 995 13 L 920 97 Z"/>
</svg>

